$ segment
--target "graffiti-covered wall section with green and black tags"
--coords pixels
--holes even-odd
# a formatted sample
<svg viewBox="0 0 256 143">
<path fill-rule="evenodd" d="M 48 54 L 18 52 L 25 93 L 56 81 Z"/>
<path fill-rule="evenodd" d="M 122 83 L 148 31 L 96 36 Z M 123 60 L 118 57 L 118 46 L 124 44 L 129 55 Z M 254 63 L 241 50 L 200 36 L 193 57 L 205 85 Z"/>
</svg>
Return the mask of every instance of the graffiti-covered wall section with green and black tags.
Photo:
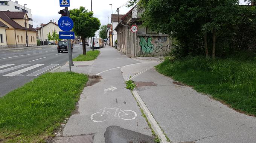
<svg viewBox="0 0 256 143">
<path fill-rule="evenodd" d="M 144 37 L 140 37 L 140 47 L 142 49 L 142 54 L 168 52 L 171 49 L 167 36 L 148 37 L 146 39 Z"/>
</svg>

